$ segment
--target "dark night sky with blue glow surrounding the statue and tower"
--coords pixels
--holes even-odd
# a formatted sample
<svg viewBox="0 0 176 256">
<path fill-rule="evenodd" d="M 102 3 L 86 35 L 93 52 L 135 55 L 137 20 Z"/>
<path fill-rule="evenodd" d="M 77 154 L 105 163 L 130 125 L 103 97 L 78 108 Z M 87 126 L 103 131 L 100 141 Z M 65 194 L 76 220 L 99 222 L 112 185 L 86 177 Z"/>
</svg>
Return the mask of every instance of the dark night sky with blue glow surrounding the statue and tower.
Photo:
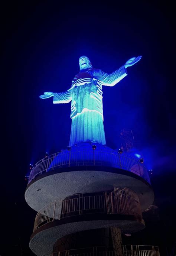
<svg viewBox="0 0 176 256">
<path fill-rule="evenodd" d="M 141 3 L 142 2 L 142 3 Z M 94 68 L 113 72 L 133 57 L 115 87 L 103 88 L 107 145 L 120 146 L 121 129 L 133 130 L 136 150 L 153 169 L 155 213 L 146 229 L 125 243 L 160 246 L 173 256 L 175 235 L 175 10 L 169 1 L 14 1 L 1 6 L 2 79 L 0 256 L 34 255 L 29 249 L 36 212 L 25 202 L 25 175 L 46 151 L 66 148 L 71 104 L 41 100 L 67 90 L 86 55 Z M 4 127 L 5 120 L 5 127 Z M 136 152 L 137 153 L 137 152 Z M 175 246 L 174 246 L 175 244 Z"/>
</svg>

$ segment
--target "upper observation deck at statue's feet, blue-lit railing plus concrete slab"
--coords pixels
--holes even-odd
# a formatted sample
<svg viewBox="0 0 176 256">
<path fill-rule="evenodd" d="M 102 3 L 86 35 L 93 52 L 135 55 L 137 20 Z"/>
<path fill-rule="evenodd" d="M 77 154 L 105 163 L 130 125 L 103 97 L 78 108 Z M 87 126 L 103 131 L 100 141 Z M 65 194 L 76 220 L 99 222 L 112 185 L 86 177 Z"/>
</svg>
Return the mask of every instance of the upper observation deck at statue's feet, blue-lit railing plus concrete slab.
<svg viewBox="0 0 176 256">
<path fill-rule="evenodd" d="M 154 200 L 149 174 L 137 159 L 96 143 L 81 143 L 71 150 L 41 159 L 30 172 L 26 202 L 39 211 L 58 197 L 78 193 L 112 191 L 114 186 L 132 189 L 141 211 Z"/>
</svg>

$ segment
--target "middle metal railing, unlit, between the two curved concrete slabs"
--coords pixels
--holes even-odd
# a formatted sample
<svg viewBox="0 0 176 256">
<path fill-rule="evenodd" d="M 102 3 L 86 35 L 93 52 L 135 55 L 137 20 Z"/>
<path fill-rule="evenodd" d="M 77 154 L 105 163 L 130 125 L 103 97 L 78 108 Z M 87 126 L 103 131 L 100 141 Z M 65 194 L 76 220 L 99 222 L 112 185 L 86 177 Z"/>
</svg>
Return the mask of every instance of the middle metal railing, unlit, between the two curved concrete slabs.
<svg viewBox="0 0 176 256">
<path fill-rule="evenodd" d="M 43 207 L 35 218 L 34 231 L 46 223 L 83 214 L 125 214 L 142 218 L 138 196 L 130 188 L 112 192 L 76 194 Z"/>
</svg>

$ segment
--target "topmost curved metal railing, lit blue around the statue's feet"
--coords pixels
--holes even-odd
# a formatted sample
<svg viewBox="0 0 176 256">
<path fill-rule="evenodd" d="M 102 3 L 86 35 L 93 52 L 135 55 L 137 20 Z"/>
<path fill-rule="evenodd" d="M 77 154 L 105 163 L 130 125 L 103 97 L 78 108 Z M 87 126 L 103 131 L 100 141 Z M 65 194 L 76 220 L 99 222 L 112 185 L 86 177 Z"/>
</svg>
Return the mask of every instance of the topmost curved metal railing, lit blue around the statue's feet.
<svg viewBox="0 0 176 256">
<path fill-rule="evenodd" d="M 130 171 L 150 183 L 145 166 L 132 156 L 109 149 L 72 149 L 69 151 L 63 150 L 37 162 L 30 172 L 28 184 L 36 176 L 57 168 L 90 165 L 108 166 Z"/>
</svg>

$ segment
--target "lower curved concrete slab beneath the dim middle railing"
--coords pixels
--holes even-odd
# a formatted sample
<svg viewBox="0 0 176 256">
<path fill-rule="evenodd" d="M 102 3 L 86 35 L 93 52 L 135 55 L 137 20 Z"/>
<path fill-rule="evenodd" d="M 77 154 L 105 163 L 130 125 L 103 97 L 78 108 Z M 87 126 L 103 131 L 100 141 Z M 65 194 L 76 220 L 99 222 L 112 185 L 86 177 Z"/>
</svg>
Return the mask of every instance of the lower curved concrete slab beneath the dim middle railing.
<svg viewBox="0 0 176 256">
<path fill-rule="evenodd" d="M 120 214 L 94 216 L 78 216 L 68 220 L 56 220 L 47 223 L 34 231 L 30 237 L 29 247 L 38 256 L 52 253 L 53 246 L 58 239 L 82 230 L 100 229 L 105 227 L 118 227 L 123 233 L 133 233 L 144 229 L 142 220 L 134 216 Z M 39 246 L 40 244 L 40 246 Z"/>
</svg>

